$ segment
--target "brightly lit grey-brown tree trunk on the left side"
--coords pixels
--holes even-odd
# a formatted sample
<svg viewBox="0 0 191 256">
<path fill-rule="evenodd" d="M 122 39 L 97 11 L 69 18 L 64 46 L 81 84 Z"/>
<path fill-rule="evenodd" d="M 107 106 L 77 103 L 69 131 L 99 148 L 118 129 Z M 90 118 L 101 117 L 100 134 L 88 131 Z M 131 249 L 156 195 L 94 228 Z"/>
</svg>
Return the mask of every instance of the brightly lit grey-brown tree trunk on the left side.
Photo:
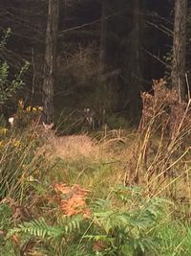
<svg viewBox="0 0 191 256">
<path fill-rule="evenodd" d="M 49 0 L 47 19 L 45 65 L 43 80 L 43 107 L 45 122 L 53 122 L 53 85 L 58 30 L 59 0 Z"/>
</svg>

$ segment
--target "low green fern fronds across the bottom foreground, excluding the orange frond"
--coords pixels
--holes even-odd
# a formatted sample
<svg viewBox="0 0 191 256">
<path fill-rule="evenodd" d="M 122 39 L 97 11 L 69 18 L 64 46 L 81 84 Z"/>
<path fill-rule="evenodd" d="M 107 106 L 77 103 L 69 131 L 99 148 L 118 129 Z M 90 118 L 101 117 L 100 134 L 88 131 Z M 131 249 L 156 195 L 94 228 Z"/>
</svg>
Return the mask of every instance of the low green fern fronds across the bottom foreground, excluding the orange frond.
<svg viewBox="0 0 191 256">
<path fill-rule="evenodd" d="M 121 190 L 122 187 L 116 190 L 116 199 Z M 51 241 L 57 255 L 73 255 L 74 250 L 74 255 L 158 255 L 161 239 L 157 227 L 165 217 L 165 201 L 159 198 L 141 200 L 141 196 L 137 194 L 139 203 L 133 204 L 135 198 L 132 198 L 132 208 L 126 202 L 121 207 L 111 199 L 93 200 L 89 219 L 66 217 L 59 219 L 57 225 L 47 224 L 44 219 L 23 222 L 12 228 L 7 238 L 20 233 L 45 244 Z M 70 249 L 68 244 L 71 244 Z"/>
</svg>

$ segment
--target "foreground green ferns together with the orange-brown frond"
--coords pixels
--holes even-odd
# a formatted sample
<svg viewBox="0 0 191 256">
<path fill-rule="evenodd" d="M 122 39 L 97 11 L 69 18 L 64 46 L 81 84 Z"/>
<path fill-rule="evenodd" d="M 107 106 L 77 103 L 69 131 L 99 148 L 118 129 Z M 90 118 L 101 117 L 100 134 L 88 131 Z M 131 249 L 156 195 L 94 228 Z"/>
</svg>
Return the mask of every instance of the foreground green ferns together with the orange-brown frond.
<svg viewBox="0 0 191 256">
<path fill-rule="evenodd" d="M 158 255 L 157 227 L 166 217 L 164 200 L 148 200 L 137 188 L 120 186 L 113 197 L 121 200 L 121 207 L 109 199 L 88 202 L 88 191 L 78 185 L 57 184 L 55 188 L 61 197 L 56 200 L 61 211 L 57 224 L 50 225 L 44 219 L 23 222 L 9 231 L 8 238 L 30 235 L 29 239 L 40 240 L 56 255 Z"/>
</svg>

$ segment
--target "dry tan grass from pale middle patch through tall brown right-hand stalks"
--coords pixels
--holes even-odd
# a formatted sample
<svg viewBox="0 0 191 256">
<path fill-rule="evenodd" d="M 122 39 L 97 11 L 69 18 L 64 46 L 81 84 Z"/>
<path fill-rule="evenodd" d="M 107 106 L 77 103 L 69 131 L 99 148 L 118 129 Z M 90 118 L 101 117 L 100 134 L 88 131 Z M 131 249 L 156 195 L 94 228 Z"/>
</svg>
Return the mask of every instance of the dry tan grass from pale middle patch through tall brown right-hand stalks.
<svg viewBox="0 0 191 256">
<path fill-rule="evenodd" d="M 144 93 L 142 99 L 136 132 L 104 130 L 93 139 L 87 134 L 37 131 L 46 141 L 38 153 L 60 161 L 53 174 L 59 176 L 56 181 L 78 183 L 104 195 L 123 183 L 142 188 L 146 197 L 189 201 L 191 101 L 180 103 L 163 81 L 155 81 L 154 93 Z"/>
</svg>

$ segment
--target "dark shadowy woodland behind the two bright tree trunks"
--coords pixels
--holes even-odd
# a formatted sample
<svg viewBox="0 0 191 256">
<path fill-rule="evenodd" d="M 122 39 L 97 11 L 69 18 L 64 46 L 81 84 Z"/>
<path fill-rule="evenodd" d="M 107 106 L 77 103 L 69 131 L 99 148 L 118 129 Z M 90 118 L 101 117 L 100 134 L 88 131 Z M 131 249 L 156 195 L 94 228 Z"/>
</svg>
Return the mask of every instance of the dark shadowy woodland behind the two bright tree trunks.
<svg viewBox="0 0 191 256">
<path fill-rule="evenodd" d="M 47 0 L 0 1 L 2 36 L 11 28 L 1 60 L 8 61 L 11 74 L 18 73 L 25 60 L 31 63 L 25 86 L 6 105 L 8 116 L 19 99 L 42 105 L 48 5 Z M 76 118 L 89 107 L 97 115 L 105 109 L 108 119 L 138 122 L 140 92 L 152 91 L 152 80 L 159 78 L 170 86 L 174 5 L 171 0 L 60 0 L 54 119 L 61 112 L 75 113 Z M 189 30 L 188 5 L 188 78 Z"/>
</svg>

